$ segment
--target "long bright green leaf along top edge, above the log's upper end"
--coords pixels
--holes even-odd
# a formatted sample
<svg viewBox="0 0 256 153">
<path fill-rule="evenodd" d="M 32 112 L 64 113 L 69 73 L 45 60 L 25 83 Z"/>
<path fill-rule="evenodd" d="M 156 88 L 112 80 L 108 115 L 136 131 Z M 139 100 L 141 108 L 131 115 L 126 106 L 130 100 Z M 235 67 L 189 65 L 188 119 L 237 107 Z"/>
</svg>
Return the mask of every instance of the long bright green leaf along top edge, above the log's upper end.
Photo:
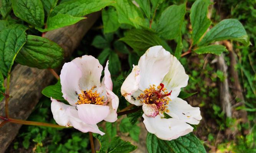
<svg viewBox="0 0 256 153">
<path fill-rule="evenodd" d="M 60 5 L 53 8 L 50 16 L 66 14 L 81 17 L 99 11 L 114 2 L 114 0 L 72 0 L 61 3 Z"/>
</svg>

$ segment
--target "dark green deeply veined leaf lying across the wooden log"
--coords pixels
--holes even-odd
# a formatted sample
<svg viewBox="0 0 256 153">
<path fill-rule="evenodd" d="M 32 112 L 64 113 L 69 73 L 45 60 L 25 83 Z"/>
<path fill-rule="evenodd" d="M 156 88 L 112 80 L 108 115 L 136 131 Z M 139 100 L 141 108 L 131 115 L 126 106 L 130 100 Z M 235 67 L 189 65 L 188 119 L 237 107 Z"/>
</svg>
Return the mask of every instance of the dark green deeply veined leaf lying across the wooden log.
<svg viewBox="0 0 256 153">
<path fill-rule="evenodd" d="M 29 67 L 56 68 L 63 60 L 63 49 L 45 37 L 27 36 L 27 42 L 20 50 L 15 61 Z"/>
</svg>

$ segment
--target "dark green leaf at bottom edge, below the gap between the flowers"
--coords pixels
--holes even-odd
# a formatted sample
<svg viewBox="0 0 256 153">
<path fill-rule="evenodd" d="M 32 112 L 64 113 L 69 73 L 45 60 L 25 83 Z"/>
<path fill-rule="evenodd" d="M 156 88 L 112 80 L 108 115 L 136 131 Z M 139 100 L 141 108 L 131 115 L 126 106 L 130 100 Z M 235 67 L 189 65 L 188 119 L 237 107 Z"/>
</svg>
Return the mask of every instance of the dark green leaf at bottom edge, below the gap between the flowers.
<svg viewBox="0 0 256 153">
<path fill-rule="evenodd" d="M 114 137 L 109 144 L 107 153 L 130 153 L 136 148 L 137 146 L 134 146 L 130 142 L 122 140 L 120 137 Z"/>
</svg>

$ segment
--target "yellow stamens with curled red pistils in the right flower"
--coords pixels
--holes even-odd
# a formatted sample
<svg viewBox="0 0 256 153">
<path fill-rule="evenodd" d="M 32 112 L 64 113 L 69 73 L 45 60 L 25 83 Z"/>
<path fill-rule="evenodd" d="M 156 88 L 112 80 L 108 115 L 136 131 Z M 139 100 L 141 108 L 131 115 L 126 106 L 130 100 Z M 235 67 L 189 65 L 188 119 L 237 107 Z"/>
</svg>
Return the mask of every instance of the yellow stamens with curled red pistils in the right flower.
<svg viewBox="0 0 256 153">
<path fill-rule="evenodd" d="M 150 85 L 149 88 L 145 89 L 143 91 L 144 93 L 141 93 L 137 99 L 140 100 L 140 102 L 142 103 L 152 104 L 151 106 L 155 105 L 157 113 L 154 114 L 158 115 L 159 112 L 168 112 L 169 110 L 167 109 L 167 105 L 171 100 L 168 96 L 171 95 L 172 91 L 168 93 L 167 89 L 164 88 L 164 84 L 162 83 L 160 83 L 157 88 L 155 87 L 155 85 Z"/>
</svg>

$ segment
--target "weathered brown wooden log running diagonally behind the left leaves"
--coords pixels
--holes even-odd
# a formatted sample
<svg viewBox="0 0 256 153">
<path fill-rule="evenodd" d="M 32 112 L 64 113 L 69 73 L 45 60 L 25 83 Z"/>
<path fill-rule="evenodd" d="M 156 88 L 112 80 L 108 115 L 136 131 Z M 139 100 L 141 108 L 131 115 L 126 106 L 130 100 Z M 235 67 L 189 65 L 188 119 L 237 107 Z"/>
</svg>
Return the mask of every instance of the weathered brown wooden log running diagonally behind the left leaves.
<svg viewBox="0 0 256 153">
<path fill-rule="evenodd" d="M 92 13 L 87 19 L 74 25 L 49 31 L 45 37 L 58 43 L 64 49 L 65 60 L 69 59 L 81 39 L 99 18 L 100 12 Z M 11 74 L 9 114 L 15 119 L 26 120 L 38 103 L 41 91 L 53 80 L 48 70 L 17 65 Z M 0 103 L 0 115 L 5 116 L 5 103 Z M 0 121 L 2 122 L 2 120 Z M 3 153 L 18 134 L 20 124 L 7 123 L 0 129 L 0 153 Z"/>
</svg>

